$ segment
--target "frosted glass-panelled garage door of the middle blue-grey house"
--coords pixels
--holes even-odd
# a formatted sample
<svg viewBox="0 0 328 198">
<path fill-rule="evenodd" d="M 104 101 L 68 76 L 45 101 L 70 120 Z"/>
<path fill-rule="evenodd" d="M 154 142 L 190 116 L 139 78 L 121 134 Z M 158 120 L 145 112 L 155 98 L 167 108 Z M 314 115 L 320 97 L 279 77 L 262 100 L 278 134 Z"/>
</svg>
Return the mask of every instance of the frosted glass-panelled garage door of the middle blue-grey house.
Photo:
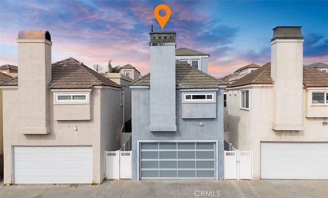
<svg viewBox="0 0 328 198">
<path fill-rule="evenodd" d="M 140 179 L 215 179 L 215 142 L 141 142 Z"/>
</svg>

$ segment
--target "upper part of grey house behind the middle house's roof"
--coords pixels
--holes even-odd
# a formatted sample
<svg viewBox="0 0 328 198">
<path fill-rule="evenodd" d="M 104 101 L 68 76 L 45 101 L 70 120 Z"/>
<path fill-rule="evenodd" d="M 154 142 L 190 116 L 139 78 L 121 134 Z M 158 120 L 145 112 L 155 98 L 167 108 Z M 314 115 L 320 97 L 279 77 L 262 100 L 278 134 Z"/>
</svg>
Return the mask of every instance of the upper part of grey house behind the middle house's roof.
<svg viewBox="0 0 328 198">
<path fill-rule="evenodd" d="M 208 62 L 210 54 L 191 50 L 188 48 L 179 48 L 175 51 L 175 58 L 183 63 L 190 64 L 193 68 L 208 72 Z"/>
</svg>

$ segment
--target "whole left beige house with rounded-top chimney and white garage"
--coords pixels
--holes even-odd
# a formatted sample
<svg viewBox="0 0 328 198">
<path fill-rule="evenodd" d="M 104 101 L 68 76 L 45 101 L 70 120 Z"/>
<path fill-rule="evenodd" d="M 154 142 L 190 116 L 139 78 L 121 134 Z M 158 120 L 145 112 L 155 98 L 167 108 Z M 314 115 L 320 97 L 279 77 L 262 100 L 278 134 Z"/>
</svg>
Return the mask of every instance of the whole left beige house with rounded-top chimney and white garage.
<svg viewBox="0 0 328 198">
<path fill-rule="evenodd" d="M 48 31 L 17 43 L 19 76 L 1 85 L 4 183 L 100 183 L 120 147 L 121 86 L 74 58 L 51 64 Z"/>
</svg>

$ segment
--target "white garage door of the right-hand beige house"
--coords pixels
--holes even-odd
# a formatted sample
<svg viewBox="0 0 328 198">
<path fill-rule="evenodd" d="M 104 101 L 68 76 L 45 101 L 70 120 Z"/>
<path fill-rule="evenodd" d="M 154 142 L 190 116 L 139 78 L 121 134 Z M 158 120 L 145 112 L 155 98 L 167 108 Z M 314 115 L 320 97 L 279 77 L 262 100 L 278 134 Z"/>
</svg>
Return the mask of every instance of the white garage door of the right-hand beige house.
<svg viewBox="0 0 328 198">
<path fill-rule="evenodd" d="M 328 143 L 262 142 L 261 179 L 328 179 Z"/>
</svg>

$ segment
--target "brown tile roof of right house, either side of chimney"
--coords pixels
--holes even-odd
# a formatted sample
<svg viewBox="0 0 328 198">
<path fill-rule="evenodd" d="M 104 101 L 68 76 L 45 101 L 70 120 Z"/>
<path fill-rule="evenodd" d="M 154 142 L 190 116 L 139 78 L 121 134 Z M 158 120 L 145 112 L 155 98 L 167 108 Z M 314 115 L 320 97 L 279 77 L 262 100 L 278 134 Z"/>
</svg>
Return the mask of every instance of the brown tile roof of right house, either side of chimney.
<svg viewBox="0 0 328 198">
<path fill-rule="evenodd" d="M 273 83 L 271 79 L 271 62 L 268 62 L 254 72 L 230 83 L 227 87 Z M 305 87 L 328 87 L 328 74 L 303 65 L 303 84 Z"/>
</svg>

